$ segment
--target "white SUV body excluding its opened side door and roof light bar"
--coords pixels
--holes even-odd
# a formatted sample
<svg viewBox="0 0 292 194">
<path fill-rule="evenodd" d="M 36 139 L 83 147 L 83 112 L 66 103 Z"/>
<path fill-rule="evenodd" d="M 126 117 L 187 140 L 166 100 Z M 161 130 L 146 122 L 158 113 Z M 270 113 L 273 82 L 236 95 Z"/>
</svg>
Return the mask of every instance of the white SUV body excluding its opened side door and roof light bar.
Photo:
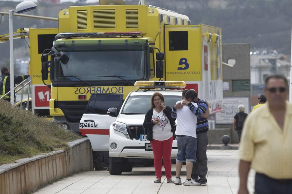
<svg viewBox="0 0 292 194">
<path fill-rule="evenodd" d="M 147 130 L 143 127 L 145 114 L 150 108 L 150 98 L 160 92 L 165 105 L 171 108 L 181 100 L 180 90 L 138 90 L 131 92 L 117 114 L 117 108 L 110 108 L 109 115 L 117 117 L 109 128 L 109 156 L 111 175 L 131 172 L 133 163 L 151 162 L 154 159 Z M 177 155 L 177 143 L 173 141 L 171 158 Z"/>
</svg>

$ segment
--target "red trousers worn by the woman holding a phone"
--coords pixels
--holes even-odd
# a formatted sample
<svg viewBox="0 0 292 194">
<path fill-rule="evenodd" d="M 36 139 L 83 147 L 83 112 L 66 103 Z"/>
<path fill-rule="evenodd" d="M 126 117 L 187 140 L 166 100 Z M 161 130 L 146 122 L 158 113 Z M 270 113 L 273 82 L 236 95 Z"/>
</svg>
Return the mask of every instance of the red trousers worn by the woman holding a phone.
<svg viewBox="0 0 292 194">
<path fill-rule="evenodd" d="M 161 179 L 162 158 L 167 179 L 171 179 L 171 148 L 173 136 L 168 140 L 159 141 L 153 139 L 150 141 L 154 154 L 154 168 L 156 178 Z"/>
</svg>

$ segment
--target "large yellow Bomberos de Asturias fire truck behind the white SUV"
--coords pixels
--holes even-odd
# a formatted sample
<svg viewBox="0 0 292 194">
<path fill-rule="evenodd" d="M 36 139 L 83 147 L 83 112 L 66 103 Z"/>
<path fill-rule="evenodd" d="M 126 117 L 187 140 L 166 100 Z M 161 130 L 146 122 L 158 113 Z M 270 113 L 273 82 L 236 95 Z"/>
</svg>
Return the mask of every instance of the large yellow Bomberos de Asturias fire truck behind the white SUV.
<svg viewBox="0 0 292 194">
<path fill-rule="evenodd" d="M 33 109 L 49 108 L 79 132 L 92 93 L 125 99 L 135 81 L 181 80 L 210 113 L 222 110 L 220 28 L 156 6 L 105 4 L 72 6 L 60 11 L 58 28 L 29 29 Z"/>
</svg>

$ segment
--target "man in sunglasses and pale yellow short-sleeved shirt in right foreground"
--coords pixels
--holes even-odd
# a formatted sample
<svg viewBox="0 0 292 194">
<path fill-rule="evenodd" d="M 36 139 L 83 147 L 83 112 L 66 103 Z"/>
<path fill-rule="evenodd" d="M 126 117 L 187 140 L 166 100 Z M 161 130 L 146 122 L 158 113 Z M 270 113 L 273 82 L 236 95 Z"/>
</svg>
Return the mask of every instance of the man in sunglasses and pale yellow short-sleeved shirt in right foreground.
<svg viewBox="0 0 292 194">
<path fill-rule="evenodd" d="M 257 194 L 292 193 L 292 104 L 286 102 L 287 90 L 286 77 L 268 76 L 267 103 L 245 120 L 239 147 L 239 194 L 248 193 L 250 168 L 256 171 Z"/>
</svg>

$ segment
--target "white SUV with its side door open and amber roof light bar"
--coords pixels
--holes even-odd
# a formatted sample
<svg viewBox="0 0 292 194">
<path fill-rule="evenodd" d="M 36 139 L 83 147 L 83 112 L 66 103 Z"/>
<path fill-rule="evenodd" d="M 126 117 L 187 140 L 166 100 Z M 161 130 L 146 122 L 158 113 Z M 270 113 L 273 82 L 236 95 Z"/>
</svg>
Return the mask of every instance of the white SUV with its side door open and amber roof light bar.
<svg viewBox="0 0 292 194">
<path fill-rule="evenodd" d="M 150 81 L 143 81 L 143 83 L 145 82 L 150 83 Z M 164 81 L 155 81 L 155 83 L 164 85 Z M 184 82 L 180 83 L 185 84 Z M 152 86 L 148 86 L 146 88 L 151 87 Z M 178 88 L 178 86 L 173 87 Z M 180 85 L 180 87 L 183 88 L 184 86 Z M 140 86 L 140 88 L 142 88 L 142 86 Z M 155 88 L 158 88 L 158 86 L 155 85 Z M 161 86 L 161 88 L 164 88 L 164 86 Z M 166 88 L 171 87 L 169 86 Z M 108 109 L 108 115 L 105 115 L 101 112 L 93 113 L 95 111 L 89 108 L 89 104 L 93 104 L 90 102 L 93 98 L 93 95 L 91 95 L 88 108 L 86 108 L 87 113 L 84 113 L 80 121 L 80 132 L 86 133 L 91 141 L 93 151 L 109 151 L 109 173 L 111 175 L 131 172 L 133 163 L 149 165 L 153 162 L 154 156 L 152 147 L 147 140 L 148 129 L 143 127 L 143 122 L 145 114 L 150 109 L 150 98 L 154 92 L 160 92 L 164 96 L 165 105 L 171 108 L 177 101 L 181 100 L 181 90 L 152 90 L 143 88 L 142 90 L 130 92 L 122 106 L 119 106 L 119 103 L 115 102 L 115 105 Z M 104 94 L 102 97 L 101 95 L 102 94 L 97 94 L 95 99 L 107 99 L 107 101 L 95 102 L 94 107 L 96 108 L 98 106 L 98 111 L 102 109 L 102 106 L 104 107 L 103 110 L 105 110 L 109 106 L 107 103 L 111 101 L 111 98 L 116 99 L 116 101 L 119 99 L 118 101 L 121 102 L 121 98 L 116 95 L 112 94 L 113 96 L 111 96 L 110 94 Z M 113 104 L 113 101 L 109 104 Z M 88 110 L 90 113 L 88 113 Z M 109 122 L 111 124 L 108 124 Z M 106 126 L 107 124 L 108 126 Z M 106 129 L 108 129 L 108 127 L 109 131 L 107 132 Z M 174 140 L 171 151 L 171 159 L 174 161 L 177 152 L 177 143 L 176 140 Z"/>
</svg>

